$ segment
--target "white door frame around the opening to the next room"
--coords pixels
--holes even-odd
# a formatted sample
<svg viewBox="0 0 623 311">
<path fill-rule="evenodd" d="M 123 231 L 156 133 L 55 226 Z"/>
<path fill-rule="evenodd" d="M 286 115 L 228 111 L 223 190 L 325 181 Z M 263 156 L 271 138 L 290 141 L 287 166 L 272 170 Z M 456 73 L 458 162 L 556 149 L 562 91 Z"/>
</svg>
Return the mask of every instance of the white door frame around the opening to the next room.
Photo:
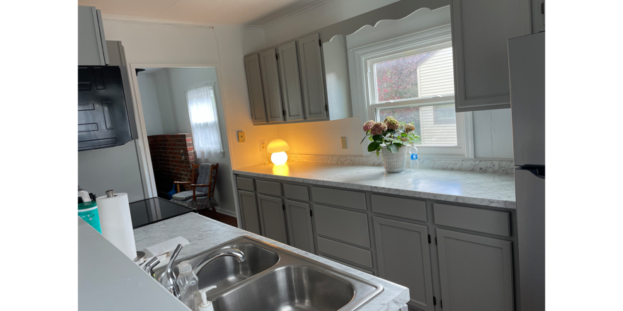
<svg viewBox="0 0 623 311">
<path fill-rule="evenodd" d="M 224 136 L 227 137 L 227 148 L 229 149 L 229 165 L 232 168 L 232 171 L 229 172 L 232 180 L 232 189 L 236 189 L 236 184 L 234 180 L 234 166 L 232 163 L 232 141 L 229 139 L 229 118 L 227 117 L 227 105 L 225 104 L 225 95 L 223 93 L 222 87 L 222 77 L 221 77 L 221 69 L 219 64 L 130 64 L 130 76 L 132 77 L 132 88 L 134 88 L 134 92 L 132 92 L 132 102 L 134 105 L 135 111 L 135 119 L 137 123 L 137 130 L 139 139 L 137 140 L 137 155 L 139 160 L 139 168 L 141 169 L 141 179 L 143 181 L 143 188 L 145 192 L 145 196 L 152 198 L 157 196 L 156 192 L 156 182 L 154 180 L 154 168 L 152 165 L 152 157 L 149 153 L 149 141 L 147 139 L 147 128 L 145 127 L 145 119 L 143 115 L 141 95 L 139 92 L 139 82 L 136 75 L 137 68 L 202 68 L 202 67 L 212 67 L 217 71 L 217 80 L 218 80 L 218 88 L 219 95 L 221 98 L 221 104 L 223 106 L 223 115 L 225 122 L 225 133 Z M 223 135 L 222 135 L 223 136 Z M 222 137 L 221 136 L 221 137 Z M 235 191 L 234 191 L 235 192 Z M 146 198 L 147 199 L 147 198 Z M 238 196 L 234 193 L 234 204 L 236 210 L 236 218 L 238 218 L 238 223 L 240 226 L 240 213 L 238 209 Z"/>
</svg>

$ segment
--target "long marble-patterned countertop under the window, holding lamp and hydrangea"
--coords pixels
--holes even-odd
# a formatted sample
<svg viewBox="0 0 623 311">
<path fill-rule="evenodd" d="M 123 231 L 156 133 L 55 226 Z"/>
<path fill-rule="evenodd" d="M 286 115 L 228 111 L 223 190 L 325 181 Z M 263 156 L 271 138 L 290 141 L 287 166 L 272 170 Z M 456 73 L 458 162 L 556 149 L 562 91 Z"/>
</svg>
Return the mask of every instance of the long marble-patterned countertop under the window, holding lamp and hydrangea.
<svg viewBox="0 0 623 311">
<path fill-rule="evenodd" d="M 413 196 L 421 199 L 515 209 L 515 176 L 488 172 L 421 169 L 387 173 L 384 168 L 316 162 L 259 164 L 234 174 L 329 187 Z"/>
</svg>

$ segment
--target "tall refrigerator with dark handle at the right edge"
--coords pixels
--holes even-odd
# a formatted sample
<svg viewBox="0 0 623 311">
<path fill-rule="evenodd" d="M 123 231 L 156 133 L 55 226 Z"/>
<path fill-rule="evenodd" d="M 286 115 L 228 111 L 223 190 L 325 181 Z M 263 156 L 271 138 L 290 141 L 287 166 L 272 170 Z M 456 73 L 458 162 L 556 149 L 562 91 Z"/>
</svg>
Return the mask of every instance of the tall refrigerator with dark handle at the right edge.
<svg viewBox="0 0 623 311">
<path fill-rule="evenodd" d="M 545 310 L 545 35 L 508 40 L 522 310 Z"/>
</svg>

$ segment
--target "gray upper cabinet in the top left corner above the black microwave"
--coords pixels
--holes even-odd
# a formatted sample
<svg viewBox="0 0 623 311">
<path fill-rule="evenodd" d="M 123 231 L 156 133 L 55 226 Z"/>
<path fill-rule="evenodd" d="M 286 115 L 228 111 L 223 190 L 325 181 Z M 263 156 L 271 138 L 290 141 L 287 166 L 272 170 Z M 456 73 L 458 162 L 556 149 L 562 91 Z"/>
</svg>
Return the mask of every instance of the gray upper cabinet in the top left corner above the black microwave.
<svg viewBox="0 0 623 311">
<path fill-rule="evenodd" d="M 94 6 L 78 6 L 78 66 L 108 65 L 102 13 Z"/>
</svg>

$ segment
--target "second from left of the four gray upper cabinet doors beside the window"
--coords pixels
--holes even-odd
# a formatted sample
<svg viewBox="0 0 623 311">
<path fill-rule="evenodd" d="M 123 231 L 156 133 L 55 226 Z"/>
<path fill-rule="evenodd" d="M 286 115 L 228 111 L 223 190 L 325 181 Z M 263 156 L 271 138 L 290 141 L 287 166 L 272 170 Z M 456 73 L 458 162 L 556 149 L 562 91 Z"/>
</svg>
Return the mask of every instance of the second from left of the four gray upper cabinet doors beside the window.
<svg viewBox="0 0 623 311">
<path fill-rule="evenodd" d="M 260 53 L 260 66 L 262 69 L 262 85 L 264 87 L 264 102 L 266 104 L 268 122 L 282 122 L 284 113 L 281 105 L 279 71 L 275 49 L 268 49 Z"/>
</svg>

